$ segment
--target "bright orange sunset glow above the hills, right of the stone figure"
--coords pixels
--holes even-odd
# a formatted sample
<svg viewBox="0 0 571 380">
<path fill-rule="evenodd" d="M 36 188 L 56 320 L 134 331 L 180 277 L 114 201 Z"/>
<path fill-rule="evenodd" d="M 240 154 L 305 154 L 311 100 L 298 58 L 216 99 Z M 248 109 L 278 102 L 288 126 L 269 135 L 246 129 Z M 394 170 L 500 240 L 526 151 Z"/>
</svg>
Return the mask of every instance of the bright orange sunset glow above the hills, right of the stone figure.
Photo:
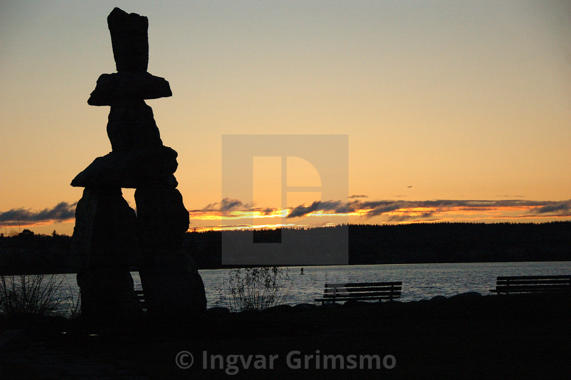
<svg viewBox="0 0 571 380">
<path fill-rule="evenodd" d="M 233 211 L 194 210 L 191 230 L 262 229 L 279 227 L 313 227 L 336 225 L 336 217 L 349 217 L 350 223 L 364 224 L 407 224 L 436 222 L 488 222 L 507 220 L 525 222 L 554 221 L 571 219 L 571 201 L 532 202 L 532 201 L 440 201 L 441 205 L 419 205 L 418 203 L 439 203 L 438 201 L 372 201 L 372 202 L 324 202 L 323 209 L 300 205 L 295 207 L 303 212 L 299 217 L 286 217 L 294 209 L 241 209 Z M 513 203 L 513 204 L 510 204 Z M 522 204 L 518 204 L 522 203 Z M 552 205 L 553 203 L 553 205 Z M 329 206 L 336 207 L 329 207 Z M 343 211 L 341 211 L 343 210 Z M 558 211 L 557 211 L 558 210 Z M 299 210 L 298 210 L 299 211 Z M 545 211 L 545 212 L 543 212 Z M 283 218 L 291 223 L 268 223 L 264 219 Z M 320 219 L 331 219 L 320 222 Z M 244 219 L 258 223 L 240 223 Z M 200 221 L 218 220 L 216 225 L 201 225 Z M 222 223 L 223 222 L 223 223 Z M 199 226 L 195 226 L 195 225 Z"/>
</svg>

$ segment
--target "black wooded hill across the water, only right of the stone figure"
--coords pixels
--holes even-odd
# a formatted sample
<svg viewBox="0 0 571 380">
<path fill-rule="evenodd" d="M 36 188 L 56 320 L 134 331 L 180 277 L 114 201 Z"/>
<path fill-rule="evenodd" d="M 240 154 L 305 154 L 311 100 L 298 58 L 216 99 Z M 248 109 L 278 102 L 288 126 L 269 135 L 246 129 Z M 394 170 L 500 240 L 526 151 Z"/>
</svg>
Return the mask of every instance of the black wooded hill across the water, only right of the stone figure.
<svg viewBox="0 0 571 380">
<path fill-rule="evenodd" d="M 571 222 L 343 225 L 297 231 L 311 241 L 311 234 L 324 228 L 348 229 L 351 265 L 571 261 Z M 254 242 L 277 243 L 281 235 L 280 229 L 254 231 Z M 220 231 L 187 233 L 187 249 L 200 269 L 221 267 L 221 239 Z"/>
</svg>

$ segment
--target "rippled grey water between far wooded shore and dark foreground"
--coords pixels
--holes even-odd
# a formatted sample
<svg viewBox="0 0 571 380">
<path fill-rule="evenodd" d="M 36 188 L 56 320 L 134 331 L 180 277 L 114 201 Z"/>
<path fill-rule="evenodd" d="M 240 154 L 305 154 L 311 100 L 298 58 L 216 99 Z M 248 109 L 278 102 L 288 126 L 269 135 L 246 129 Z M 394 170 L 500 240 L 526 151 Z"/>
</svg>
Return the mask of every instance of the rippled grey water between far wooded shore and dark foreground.
<svg viewBox="0 0 571 380">
<path fill-rule="evenodd" d="M 284 272 L 287 269 L 284 268 Z M 403 281 L 402 301 L 428 299 L 435 295 L 451 295 L 477 291 L 490 294 L 501 275 L 557 275 L 571 273 L 571 261 L 518 262 L 518 263 L 445 263 L 395 264 L 351 266 L 306 266 L 304 275 L 300 267 L 289 267 L 293 288 L 284 303 L 314 303 L 320 298 L 325 283 Z M 131 273 L 135 289 L 141 289 L 139 273 Z M 227 269 L 200 270 L 204 281 L 208 307 L 224 306 L 219 290 Z M 71 287 L 77 289 L 75 275 L 67 275 Z"/>
</svg>

